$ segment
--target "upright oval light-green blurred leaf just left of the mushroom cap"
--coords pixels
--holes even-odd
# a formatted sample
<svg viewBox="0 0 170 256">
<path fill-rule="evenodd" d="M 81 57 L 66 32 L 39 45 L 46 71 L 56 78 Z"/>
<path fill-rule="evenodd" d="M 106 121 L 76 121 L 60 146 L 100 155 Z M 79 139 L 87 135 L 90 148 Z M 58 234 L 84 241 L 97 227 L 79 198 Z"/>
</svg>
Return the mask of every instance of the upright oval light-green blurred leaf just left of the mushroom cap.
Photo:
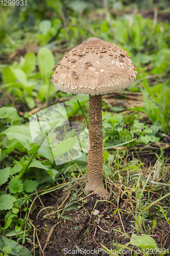
<svg viewBox="0 0 170 256">
<path fill-rule="evenodd" d="M 38 52 L 38 67 L 44 84 L 49 83 L 54 63 L 54 55 L 50 49 L 44 47 L 41 48 Z"/>
</svg>

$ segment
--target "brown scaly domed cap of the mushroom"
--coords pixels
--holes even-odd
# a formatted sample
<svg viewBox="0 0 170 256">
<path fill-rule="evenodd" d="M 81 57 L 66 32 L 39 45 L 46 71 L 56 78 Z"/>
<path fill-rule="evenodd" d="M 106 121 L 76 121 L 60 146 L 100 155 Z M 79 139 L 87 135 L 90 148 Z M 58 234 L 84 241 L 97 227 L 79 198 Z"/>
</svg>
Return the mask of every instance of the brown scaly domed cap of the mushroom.
<svg viewBox="0 0 170 256">
<path fill-rule="evenodd" d="M 55 66 L 55 87 L 73 94 L 107 94 L 129 87 L 136 67 L 120 47 L 89 38 L 64 55 Z"/>
</svg>

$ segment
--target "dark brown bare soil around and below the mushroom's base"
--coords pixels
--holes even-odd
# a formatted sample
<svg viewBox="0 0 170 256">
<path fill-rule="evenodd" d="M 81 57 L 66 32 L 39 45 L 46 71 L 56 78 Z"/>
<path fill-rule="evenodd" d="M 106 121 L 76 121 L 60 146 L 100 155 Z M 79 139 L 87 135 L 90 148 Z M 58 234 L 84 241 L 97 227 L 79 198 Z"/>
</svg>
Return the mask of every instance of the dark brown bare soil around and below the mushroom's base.
<svg viewBox="0 0 170 256">
<path fill-rule="evenodd" d="M 66 196 L 67 196 L 66 190 L 62 191 L 62 189 L 60 189 L 55 191 L 53 195 L 46 194 L 45 196 L 41 197 L 41 200 L 45 207 L 57 206 L 57 205 L 60 206 Z M 128 216 L 126 214 L 125 215 L 121 214 L 121 218 L 123 222 L 121 223 L 118 212 L 115 218 L 110 216 L 111 214 L 113 214 L 113 211 L 116 209 L 116 206 L 109 205 L 104 216 L 101 218 L 100 227 L 102 227 L 103 230 L 109 230 L 109 226 L 111 225 L 110 233 L 104 232 L 98 228 L 95 234 L 95 241 L 99 245 L 94 243 L 93 235 L 96 227 L 95 220 L 97 220 L 98 217 L 94 215 L 91 216 L 91 211 L 93 210 L 96 199 L 97 199 L 96 196 L 88 197 L 87 203 L 84 204 L 83 207 L 80 208 L 80 210 L 65 211 L 64 215 L 71 217 L 72 220 L 66 220 L 63 218 L 58 219 L 56 215 L 54 215 L 53 217 L 52 215 L 50 215 L 49 219 L 44 219 L 43 216 L 46 215 L 46 212 L 44 210 L 41 211 L 40 214 L 38 215 L 38 212 L 42 209 L 42 207 L 38 206 L 38 205 L 41 205 L 41 203 L 37 199 L 36 210 L 34 209 L 32 214 L 30 214 L 30 219 L 33 221 L 33 224 L 38 229 L 37 230 L 38 239 L 39 239 L 42 250 L 44 248 L 46 241 L 48 241 L 47 246 L 44 250 L 45 256 L 56 256 L 56 255 L 64 256 L 64 255 L 77 255 L 77 254 L 99 256 L 104 254 L 104 251 L 100 251 L 100 250 L 98 251 L 99 248 L 102 248 L 102 245 L 106 246 L 108 249 L 113 250 L 115 249 L 113 242 L 124 245 L 130 241 L 130 239 L 126 238 L 124 235 L 122 235 L 122 233 L 115 232 L 113 229 L 118 229 L 119 231 L 122 231 L 122 232 L 124 232 L 124 229 L 125 229 L 128 236 L 131 237 L 132 233 L 134 232 L 133 227 L 131 226 L 131 224 L 134 224 L 134 223 L 130 222 L 130 220 L 133 220 L 132 217 L 130 215 Z M 64 205 L 62 207 L 64 207 Z M 78 204 L 76 203 L 74 204 L 74 206 L 78 206 Z M 107 204 L 105 204 L 105 202 L 98 202 L 95 209 L 98 209 L 101 215 L 102 212 L 106 209 L 106 207 L 107 207 Z M 123 200 L 122 201 L 120 200 L 119 207 L 122 208 L 124 212 L 127 212 L 126 209 L 128 209 L 128 205 L 124 203 Z M 57 210 L 57 207 L 52 209 L 55 211 Z M 51 209 L 49 212 L 52 212 Z M 37 215 L 38 215 L 38 218 L 37 218 Z M 151 216 L 153 218 L 154 215 L 155 215 L 154 211 L 150 212 L 148 219 L 150 219 Z M 146 223 L 146 224 L 147 224 L 147 227 L 148 225 L 150 226 L 150 231 L 152 234 L 152 222 Z M 123 229 L 123 226 L 124 226 L 124 229 Z M 53 229 L 53 232 L 51 233 L 53 227 L 54 229 Z M 153 237 L 153 238 L 156 241 L 158 247 L 162 240 L 162 233 L 163 233 L 162 246 L 163 248 L 167 248 L 170 243 L 169 226 L 165 221 L 165 219 L 161 221 L 161 219 L 157 218 L 157 225 L 154 230 L 154 235 L 156 234 L 159 237 Z M 33 234 L 30 238 L 33 240 Z M 35 237 L 35 244 L 38 245 L 38 241 L 36 237 Z M 32 250 L 32 245 L 27 244 L 27 248 Z M 78 248 L 82 249 L 83 253 L 79 253 Z M 93 252 L 92 250 L 94 249 L 96 251 Z M 35 249 L 35 256 L 39 256 L 39 255 L 42 255 L 42 253 L 41 253 L 40 247 L 37 246 L 37 248 Z M 131 254 L 126 254 L 126 255 L 131 255 Z"/>
</svg>

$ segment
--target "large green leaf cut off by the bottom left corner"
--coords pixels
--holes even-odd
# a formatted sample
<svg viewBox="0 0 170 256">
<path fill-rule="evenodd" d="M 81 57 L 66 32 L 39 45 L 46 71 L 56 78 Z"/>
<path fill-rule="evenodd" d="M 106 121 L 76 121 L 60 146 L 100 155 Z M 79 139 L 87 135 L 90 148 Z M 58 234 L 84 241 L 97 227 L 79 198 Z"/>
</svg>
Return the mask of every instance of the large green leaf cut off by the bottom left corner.
<svg viewBox="0 0 170 256">
<path fill-rule="evenodd" d="M 6 246 L 11 248 L 11 251 L 8 253 L 9 256 L 32 256 L 32 253 L 26 247 L 21 246 L 14 240 L 0 236 L 0 250 L 3 251 Z"/>
</svg>

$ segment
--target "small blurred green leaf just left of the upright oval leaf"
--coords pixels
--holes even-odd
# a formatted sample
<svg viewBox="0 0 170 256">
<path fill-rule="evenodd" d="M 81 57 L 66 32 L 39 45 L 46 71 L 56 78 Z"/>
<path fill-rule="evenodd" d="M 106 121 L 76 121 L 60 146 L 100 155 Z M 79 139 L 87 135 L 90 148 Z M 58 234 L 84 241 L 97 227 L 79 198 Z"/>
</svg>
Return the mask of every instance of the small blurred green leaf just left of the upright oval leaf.
<svg viewBox="0 0 170 256">
<path fill-rule="evenodd" d="M 25 55 L 25 63 L 21 70 L 27 75 L 31 74 L 35 70 L 35 54 L 33 52 L 29 52 Z"/>
</svg>

